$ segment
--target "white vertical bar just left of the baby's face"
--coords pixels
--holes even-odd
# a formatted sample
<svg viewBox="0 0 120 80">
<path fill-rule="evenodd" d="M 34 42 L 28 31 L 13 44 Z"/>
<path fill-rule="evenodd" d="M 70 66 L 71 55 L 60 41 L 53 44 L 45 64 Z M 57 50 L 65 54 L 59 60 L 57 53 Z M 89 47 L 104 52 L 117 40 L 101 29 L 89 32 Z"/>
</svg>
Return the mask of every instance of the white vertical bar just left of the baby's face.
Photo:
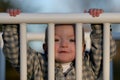
<svg viewBox="0 0 120 80">
<path fill-rule="evenodd" d="M 50 23 L 48 27 L 48 79 L 54 80 L 54 24 Z"/>
</svg>

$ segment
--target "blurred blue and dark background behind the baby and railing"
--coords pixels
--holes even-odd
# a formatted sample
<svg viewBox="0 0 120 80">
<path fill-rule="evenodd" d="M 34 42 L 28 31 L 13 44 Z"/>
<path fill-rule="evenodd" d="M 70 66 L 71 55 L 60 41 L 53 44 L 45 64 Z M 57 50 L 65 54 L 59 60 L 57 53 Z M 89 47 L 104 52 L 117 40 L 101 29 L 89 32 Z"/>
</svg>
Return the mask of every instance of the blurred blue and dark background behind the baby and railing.
<svg viewBox="0 0 120 80">
<path fill-rule="evenodd" d="M 0 0 L 0 12 L 6 12 L 9 8 L 19 8 L 23 13 L 82 13 L 90 8 L 100 8 L 107 12 L 120 12 L 120 0 Z M 1 25 L 0 25 L 1 26 Z M 28 32 L 44 33 L 46 24 L 28 24 Z M 120 24 L 112 24 L 113 37 L 116 39 L 117 55 L 111 62 L 111 80 L 120 80 Z M 89 27 L 85 26 L 86 32 Z M 2 32 L 2 27 L 0 27 Z M 40 41 L 30 42 L 30 46 L 37 51 L 42 50 Z M 2 54 L 0 54 L 1 56 Z M 2 55 L 3 56 L 3 55 Z M 3 63 L 2 57 L 0 63 Z M 17 73 L 6 60 L 5 80 L 19 80 Z M 0 65 L 1 66 L 1 65 Z M 1 69 L 0 69 L 1 70 Z M 2 72 L 2 71 L 0 71 Z M 1 75 L 1 73 L 0 73 Z"/>
</svg>

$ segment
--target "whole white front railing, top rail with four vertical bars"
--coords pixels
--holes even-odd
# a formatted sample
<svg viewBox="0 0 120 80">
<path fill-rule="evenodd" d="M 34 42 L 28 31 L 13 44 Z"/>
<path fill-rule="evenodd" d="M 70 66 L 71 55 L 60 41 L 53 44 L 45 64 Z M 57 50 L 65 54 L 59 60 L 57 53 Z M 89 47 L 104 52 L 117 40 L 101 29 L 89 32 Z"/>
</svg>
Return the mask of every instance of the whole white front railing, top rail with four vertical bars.
<svg viewBox="0 0 120 80">
<path fill-rule="evenodd" d="M 49 80 L 54 80 L 54 24 L 56 23 L 75 23 L 76 26 L 76 80 L 82 80 L 82 24 L 84 23 L 103 23 L 104 24 L 104 54 L 103 56 L 103 80 L 110 80 L 110 59 L 109 59 L 109 45 L 110 45 L 110 24 L 120 23 L 120 13 L 104 13 L 100 17 L 93 18 L 87 13 L 80 14 L 29 14 L 22 13 L 17 17 L 10 17 L 6 13 L 0 13 L 0 23 L 1 24 L 20 24 L 21 34 L 20 37 L 20 54 L 21 54 L 21 80 L 27 80 L 27 39 L 26 36 L 26 24 L 28 23 L 47 23 L 49 24 L 49 57 L 48 57 L 48 78 Z M 79 36 L 77 35 L 79 34 Z M 29 39 L 30 40 L 30 39 Z M 79 48 L 79 49 L 78 49 Z M 23 54 L 24 53 L 24 54 Z M 52 53 L 52 54 L 51 54 Z M 108 53 L 108 54 L 107 54 Z M 81 57 L 81 58 L 79 58 Z M 24 60 L 24 61 L 23 61 Z M 81 75 L 81 76 L 79 76 Z"/>
</svg>

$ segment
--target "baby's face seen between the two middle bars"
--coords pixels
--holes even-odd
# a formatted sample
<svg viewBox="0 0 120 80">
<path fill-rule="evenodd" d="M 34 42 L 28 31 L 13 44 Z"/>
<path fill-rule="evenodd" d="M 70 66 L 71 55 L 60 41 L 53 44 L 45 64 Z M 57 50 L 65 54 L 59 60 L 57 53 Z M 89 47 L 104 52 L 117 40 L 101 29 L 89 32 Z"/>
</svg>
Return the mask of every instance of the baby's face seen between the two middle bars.
<svg viewBox="0 0 120 80">
<path fill-rule="evenodd" d="M 75 33 L 72 25 L 55 27 L 55 60 L 60 63 L 75 59 Z"/>
</svg>

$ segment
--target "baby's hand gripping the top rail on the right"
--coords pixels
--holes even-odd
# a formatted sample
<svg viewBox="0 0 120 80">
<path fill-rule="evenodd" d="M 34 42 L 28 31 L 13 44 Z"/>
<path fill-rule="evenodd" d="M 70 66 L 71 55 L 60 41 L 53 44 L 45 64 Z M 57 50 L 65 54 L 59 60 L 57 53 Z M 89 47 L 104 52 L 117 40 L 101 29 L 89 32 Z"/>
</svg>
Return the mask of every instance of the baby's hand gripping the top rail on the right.
<svg viewBox="0 0 120 80">
<path fill-rule="evenodd" d="M 99 17 L 104 11 L 102 9 L 89 9 L 89 11 L 84 12 L 88 12 L 92 17 Z"/>
</svg>

